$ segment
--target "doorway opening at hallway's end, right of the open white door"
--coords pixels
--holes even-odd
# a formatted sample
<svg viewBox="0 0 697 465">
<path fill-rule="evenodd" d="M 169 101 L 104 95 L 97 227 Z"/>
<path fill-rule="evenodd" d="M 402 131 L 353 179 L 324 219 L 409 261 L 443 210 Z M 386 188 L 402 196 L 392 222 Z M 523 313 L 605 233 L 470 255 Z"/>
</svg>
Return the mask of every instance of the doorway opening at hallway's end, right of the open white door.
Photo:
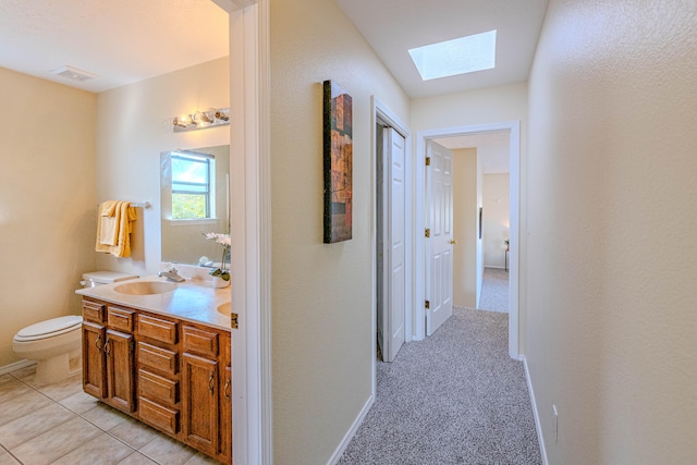
<svg viewBox="0 0 697 465">
<path fill-rule="evenodd" d="M 453 154 L 453 305 L 509 311 L 509 131 L 436 138 Z"/>
</svg>

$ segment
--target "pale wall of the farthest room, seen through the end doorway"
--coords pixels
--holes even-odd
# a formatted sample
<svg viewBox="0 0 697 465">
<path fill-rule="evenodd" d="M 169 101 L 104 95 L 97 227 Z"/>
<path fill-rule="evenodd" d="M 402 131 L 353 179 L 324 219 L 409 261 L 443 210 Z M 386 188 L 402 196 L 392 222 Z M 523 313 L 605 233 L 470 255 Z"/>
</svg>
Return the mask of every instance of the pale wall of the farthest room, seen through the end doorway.
<svg viewBox="0 0 697 465">
<path fill-rule="evenodd" d="M 505 244 L 510 237 L 510 179 L 508 173 L 484 175 L 484 266 L 505 267 Z"/>
</svg>

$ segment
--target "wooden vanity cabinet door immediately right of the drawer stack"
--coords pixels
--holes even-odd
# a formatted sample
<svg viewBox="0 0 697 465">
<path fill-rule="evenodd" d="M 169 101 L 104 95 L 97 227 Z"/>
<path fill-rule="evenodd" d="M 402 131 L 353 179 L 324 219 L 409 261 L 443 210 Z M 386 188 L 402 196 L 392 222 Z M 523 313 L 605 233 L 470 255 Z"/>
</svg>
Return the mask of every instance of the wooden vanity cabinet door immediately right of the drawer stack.
<svg viewBox="0 0 697 465">
<path fill-rule="evenodd" d="M 218 452 L 218 362 L 182 355 L 182 433 L 199 451 Z"/>
</svg>

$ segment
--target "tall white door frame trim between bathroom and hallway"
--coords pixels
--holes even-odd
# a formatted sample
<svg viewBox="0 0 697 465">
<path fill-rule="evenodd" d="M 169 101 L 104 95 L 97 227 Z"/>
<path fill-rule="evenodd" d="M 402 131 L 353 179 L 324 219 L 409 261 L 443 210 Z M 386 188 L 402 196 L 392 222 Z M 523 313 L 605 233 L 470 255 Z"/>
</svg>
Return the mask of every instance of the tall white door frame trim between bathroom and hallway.
<svg viewBox="0 0 697 465">
<path fill-rule="evenodd" d="M 212 0 L 230 15 L 233 462 L 273 463 L 269 0 Z"/>
</svg>

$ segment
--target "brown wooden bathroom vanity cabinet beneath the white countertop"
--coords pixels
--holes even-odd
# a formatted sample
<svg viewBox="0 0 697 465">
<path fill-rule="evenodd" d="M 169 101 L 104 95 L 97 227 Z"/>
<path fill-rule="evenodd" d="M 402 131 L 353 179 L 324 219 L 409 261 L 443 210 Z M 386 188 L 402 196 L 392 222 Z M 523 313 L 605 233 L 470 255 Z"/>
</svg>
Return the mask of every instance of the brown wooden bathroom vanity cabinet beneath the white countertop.
<svg viewBox="0 0 697 465">
<path fill-rule="evenodd" d="M 230 331 L 88 297 L 83 320 L 85 392 L 232 464 Z"/>
</svg>

